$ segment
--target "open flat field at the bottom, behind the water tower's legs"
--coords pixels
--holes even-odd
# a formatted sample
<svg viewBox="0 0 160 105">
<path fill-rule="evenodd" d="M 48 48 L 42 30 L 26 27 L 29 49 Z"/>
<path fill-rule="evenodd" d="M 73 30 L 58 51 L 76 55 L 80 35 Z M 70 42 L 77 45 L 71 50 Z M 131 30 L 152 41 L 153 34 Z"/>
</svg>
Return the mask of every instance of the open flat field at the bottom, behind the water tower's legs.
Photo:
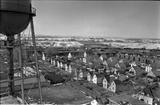
<svg viewBox="0 0 160 105">
<path fill-rule="evenodd" d="M 32 89 L 26 91 L 26 96 L 29 96 L 38 102 L 38 92 L 38 89 Z M 92 100 L 91 98 L 86 97 L 81 91 L 67 85 L 44 87 L 42 88 L 42 95 L 45 103 L 83 104 Z"/>
</svg>

